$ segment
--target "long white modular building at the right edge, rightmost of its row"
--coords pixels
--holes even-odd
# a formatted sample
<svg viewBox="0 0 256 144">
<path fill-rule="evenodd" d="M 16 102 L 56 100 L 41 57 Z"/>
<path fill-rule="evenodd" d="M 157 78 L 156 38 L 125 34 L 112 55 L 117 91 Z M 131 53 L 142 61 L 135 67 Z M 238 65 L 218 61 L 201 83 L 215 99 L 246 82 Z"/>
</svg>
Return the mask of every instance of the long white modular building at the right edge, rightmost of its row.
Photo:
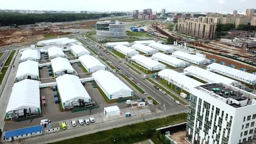
<svg viewBox="0 0 256 144">
<path fill-rule="evenodd" d="M 243 72 L 238 69 L 230 68 L 226 65 L 220 65 L 218 63 L 212 63 L 207 66 L 207 69 L 212 69 L 213 72 L 220 73 L 221 75 L 226 75 L 230 78 L 236 79 L 238 81 L 254 85 L 256 83 L 256 75 L 248 72 Z"/>
</svg>

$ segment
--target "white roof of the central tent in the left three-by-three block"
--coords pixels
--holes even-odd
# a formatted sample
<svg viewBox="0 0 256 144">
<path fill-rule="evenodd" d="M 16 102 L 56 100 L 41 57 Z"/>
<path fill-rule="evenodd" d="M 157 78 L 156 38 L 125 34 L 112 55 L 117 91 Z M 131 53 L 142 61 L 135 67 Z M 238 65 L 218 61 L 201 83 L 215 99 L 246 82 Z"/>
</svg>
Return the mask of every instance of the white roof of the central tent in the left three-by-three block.
<svg viewBox="0 0 256 144">
<path fill-rule="evenodd" d="M 74 71 L 72 65 L 70 65 L 69 60 L 61 57 L 57 57 L 55 59 L 51 59 L 53 72 L 63 71 L 65 69 L 69 69 Z"/>
</svg>

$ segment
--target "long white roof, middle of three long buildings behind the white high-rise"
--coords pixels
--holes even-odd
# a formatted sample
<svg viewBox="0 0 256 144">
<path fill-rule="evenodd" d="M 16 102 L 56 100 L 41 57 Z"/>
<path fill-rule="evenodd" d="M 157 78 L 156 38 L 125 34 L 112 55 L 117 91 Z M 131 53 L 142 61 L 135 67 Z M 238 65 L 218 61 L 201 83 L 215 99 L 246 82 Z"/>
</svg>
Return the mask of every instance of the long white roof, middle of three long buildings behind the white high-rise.
<svg viewBox="0 0 256 144">
<path fill-rule="evenodd" d="M 191 65 L 191 66 L 185 68 L 184 72 L 191 72 L 191 73 L 200 75 L 200 77 L 204 77 L 206 79 L 209 79 L 211 82 L 215 82 L 215 83 L 221 82 L 221 83 L 225 83 L 227 85 L 230 85 L 231 83 L 236 82 L 233 79 L 226 78 L 225 76 L 218 75 L 214 72 L 210 72 L 206 69 L 202 69 L 202 68 L 199 68 L 199 67 L 194 66 L 194 65 Z"/>
</svg>

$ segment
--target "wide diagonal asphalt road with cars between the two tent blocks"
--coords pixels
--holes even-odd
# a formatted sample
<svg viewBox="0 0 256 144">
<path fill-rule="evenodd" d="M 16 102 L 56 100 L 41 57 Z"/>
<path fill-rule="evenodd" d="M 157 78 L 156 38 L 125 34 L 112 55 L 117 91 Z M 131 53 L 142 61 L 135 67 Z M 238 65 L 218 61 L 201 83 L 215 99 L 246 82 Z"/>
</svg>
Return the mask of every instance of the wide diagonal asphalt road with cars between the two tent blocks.
<svg viewBox="0 0 256 144">
<path fill-rule="evenodd" d="M 153 85 L 148 82 L 147 80 L 141 79 L 142 75 L 138 75 L 131 69 L 127 69 L 126 65 L 118 62 L 118 59 L 112 57 L 111 55 L 107 55 L 105 52 L 103 52 L 103 49 L 99 49 L 97 46 L 95 46 L 95 43 L 89 42 L 89 40 L 85 40 L 84 38 L 80 38 L 85 44 L 87 44 L 90 47 L 93 47 L 96 51 L 100 52 L 102 54 L 103 58 L 107 58 L 109 62 L 112 62 L 113 65 L 117 65 L 120 68 L 120 72 L 127 73 L 130 75 L 133 79 L 135 79 L 136 82 L 141 84 L 141 88 L 148 92 L 149 95 L 151 95 L 153 98 L 155 98 L 157 101 L 161 103 L 160 108 L 161 110 L 164 110 L 164 105 L 166 109 L 170 108 L 179 108 L 184 107 L 182 105 L 177 105 L 169 95 L 164 95 L 161 92 L 159 92 L 157 89 L 153 87 Z M 97 43 L 98 44 L 98 43 Z M 100 45 L 100 44 L 98 44 Z"/>
</svg>

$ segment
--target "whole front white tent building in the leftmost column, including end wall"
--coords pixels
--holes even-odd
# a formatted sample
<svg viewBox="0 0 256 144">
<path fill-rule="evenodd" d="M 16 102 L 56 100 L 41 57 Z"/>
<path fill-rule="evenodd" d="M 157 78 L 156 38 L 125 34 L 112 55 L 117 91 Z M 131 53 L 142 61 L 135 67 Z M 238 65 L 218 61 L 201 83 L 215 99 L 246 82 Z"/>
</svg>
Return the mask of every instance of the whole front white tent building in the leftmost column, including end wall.
<svg viewBox="0 0 256 144">
<path fill-rule="evenodd" d="M 26 112 L 26 114 L 24 113 Z M 13 85 L 6 109 L 6 118 L 15 119 L 23 115 L 40 115 L 39 81 L 24 79 Z"/>
</svg>

